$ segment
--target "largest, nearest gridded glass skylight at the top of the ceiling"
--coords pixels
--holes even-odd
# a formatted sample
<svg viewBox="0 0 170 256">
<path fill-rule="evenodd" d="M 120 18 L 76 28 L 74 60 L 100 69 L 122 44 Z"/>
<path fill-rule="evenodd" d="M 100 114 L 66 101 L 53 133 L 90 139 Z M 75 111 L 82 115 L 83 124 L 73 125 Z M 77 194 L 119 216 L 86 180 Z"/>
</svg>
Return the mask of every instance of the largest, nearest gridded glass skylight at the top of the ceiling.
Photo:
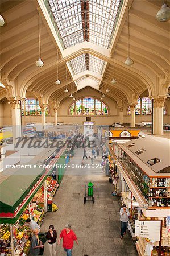
<svg viewBox="0 0 170 256">
<path fill-rule="evenodd" d="M 108 48 L 121 0 L 48 0 L 65 48 L 83 41 Z"/>
</svg>

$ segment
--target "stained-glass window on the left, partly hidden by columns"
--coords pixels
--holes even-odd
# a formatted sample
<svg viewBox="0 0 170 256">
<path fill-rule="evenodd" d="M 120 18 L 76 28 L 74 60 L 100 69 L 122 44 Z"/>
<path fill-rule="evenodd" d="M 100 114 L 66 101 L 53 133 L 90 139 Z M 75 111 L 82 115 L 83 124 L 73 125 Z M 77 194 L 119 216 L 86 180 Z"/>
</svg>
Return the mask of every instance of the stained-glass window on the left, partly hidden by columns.
<svg viewBox="0 0 170 256">
<path fill-rule="evenodd" d="M 48 106 L 45 109 L 45 114 L 49 115 Z M 35 98 L 28 98 L 26 101 L 24 101 L 22 104 L 22 115 L 42 115 L 39 101 Z"/>
</svg>

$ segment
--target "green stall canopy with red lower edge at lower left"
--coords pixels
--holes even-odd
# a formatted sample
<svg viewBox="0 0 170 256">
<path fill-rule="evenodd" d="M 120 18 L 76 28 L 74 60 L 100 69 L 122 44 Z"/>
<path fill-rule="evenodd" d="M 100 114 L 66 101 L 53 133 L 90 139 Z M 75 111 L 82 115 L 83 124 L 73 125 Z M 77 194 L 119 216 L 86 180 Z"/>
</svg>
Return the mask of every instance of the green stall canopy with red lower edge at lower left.
<svg viewBox="0 0 170 256">
<path fill-rule="evenodd" d="M 26 203 L 28 204 L 28 201 L 33 196 L 30 193 L 31 190 L 36 183 L 37 185 L 40 185 L 39 183 L 42 184 L 39 181 L 43 181 L 41 178 L 44 173 L 45 170 L 38 166 L 36 168 L 19 169 L 2 181 L 0 187 L 0 222 L 2 222 L 1 217 L 14 218 L 16 217 L 15 213 L 18 216 L 20 211 L 17 213 L 16 209 L 23 208 L 26 198 Z"/>
</svg>

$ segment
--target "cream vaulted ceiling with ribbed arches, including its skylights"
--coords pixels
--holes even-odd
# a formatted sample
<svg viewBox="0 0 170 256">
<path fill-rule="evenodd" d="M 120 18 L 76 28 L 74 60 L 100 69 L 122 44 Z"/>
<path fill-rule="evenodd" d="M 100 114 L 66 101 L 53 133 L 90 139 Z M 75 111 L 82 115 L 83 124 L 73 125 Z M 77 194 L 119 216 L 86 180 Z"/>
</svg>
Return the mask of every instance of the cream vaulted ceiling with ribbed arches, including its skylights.
<svg viewBox="0 0 170 256">
<path fill-rule="evenodd" d="M 60 104 L 85 86 L 104 92 L 118 105 L 135 101 L 145 90 L 150 96 L 167 94 L 170 22 L 156 20 L 160 7 L 159 0 L 2 0 L 0 81 L 7 90 L 0 87 L 0 99 L 7 94 L 25 97 L 31 89 L 44 102 L 53 98 Z M 38 10 L 41 68 L 35 65 Z M 125 64 L 128 10 L 130 67 Z M 60 85 L 55 84 L 57 72 Z M 113 78 L 117 84 L 111 84 Z"/>
</svg>

